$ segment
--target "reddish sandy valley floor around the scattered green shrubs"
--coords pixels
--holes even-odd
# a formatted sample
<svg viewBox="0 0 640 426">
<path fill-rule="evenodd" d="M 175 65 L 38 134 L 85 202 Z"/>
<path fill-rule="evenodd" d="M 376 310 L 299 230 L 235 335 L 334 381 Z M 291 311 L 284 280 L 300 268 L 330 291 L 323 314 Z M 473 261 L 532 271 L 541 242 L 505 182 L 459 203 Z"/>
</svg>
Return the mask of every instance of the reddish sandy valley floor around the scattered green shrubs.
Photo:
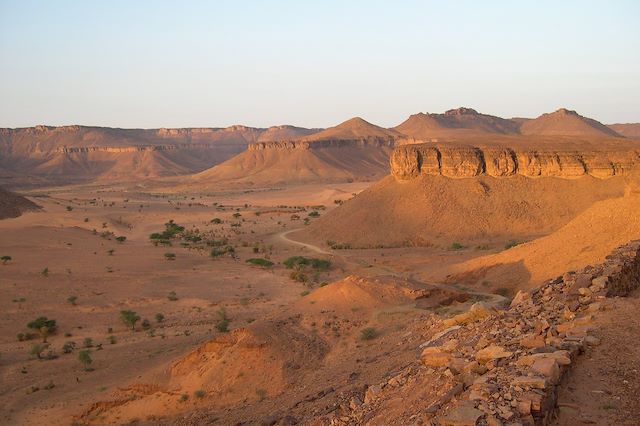
<svg viewBox="0 0 640 426">
<path fill-rule="evenodd" d="M 0 265 L 0 423 L 234 424 L 260 423 L 274 413 L 308 419 L 414 361 L 438 312 L 404 299 L 408 280 L 444 282 L 456 265 L 504 248 L 333 250 L 300 239 L 305 222 L 318 220 L 310 212 L 322 217 L 336 208 L 335 200 L 348 200 L 367 185 L 199 194 L 140 186 L 32 192 L 42 211 L 0 221 L 0 256 L 12 258 Z M 170 247 L 152 244 L 149 234 L 162 232 L 169 220 L 207 239 L 226 239 L 234 256 L 212 258 L 209 247 L 177 240 Z M 303 284 L 281 264 L 293 255 L 332 266 Z M 246 263 L 254 257 L 275 265 Z M 362 278 L 345 281 L 351 275 Z M 381 299 L 381 289 L 393 286 L 400 290 Z M 447 288 L 464 290 L 456 283 L 431 290 Z M 480 296 L 493 301 L 493 290 L 475 288 L 469 301 L 447 311 L 465 309 Z M 170 300 L 171 292 L 177 300 Z M 221 309 L 231 333 L 217 329 Z M 140 321 L 131 331 L 122 310 L 148 319 L 149 328 Z M 33 331 L 26 325 L 40 316 L 58 324 L 43 352 L 51 350 L 53 359 L 30 355 L 39 337 L 16 337 Z M 379 336 L 363 341 L 366 327 Z M 91 371 L 78 360 L 88 338 Z M 69 341 L 77 348 L 63 353 Z M 195 397 L 198 390 L 206 396 Z"/>
</svg>

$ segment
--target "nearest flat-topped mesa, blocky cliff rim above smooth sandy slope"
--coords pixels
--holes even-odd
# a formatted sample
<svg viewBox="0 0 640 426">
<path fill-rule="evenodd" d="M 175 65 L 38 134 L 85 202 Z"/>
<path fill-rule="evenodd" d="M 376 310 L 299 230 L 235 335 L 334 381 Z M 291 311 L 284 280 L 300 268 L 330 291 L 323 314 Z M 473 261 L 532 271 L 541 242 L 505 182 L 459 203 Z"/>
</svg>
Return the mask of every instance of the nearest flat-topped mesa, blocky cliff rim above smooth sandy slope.
<svg viewBox="0 0 640 426">
<path fill-rule="evenodd" d="M 393 176 L 305 233 L 356 247 L 528 239 L 558 229 L 596 201 L 622 196 L 625 175 L 637 163 L 633 152 L 624 157 L 402 146 L 392 154 Z"/>
</svg>

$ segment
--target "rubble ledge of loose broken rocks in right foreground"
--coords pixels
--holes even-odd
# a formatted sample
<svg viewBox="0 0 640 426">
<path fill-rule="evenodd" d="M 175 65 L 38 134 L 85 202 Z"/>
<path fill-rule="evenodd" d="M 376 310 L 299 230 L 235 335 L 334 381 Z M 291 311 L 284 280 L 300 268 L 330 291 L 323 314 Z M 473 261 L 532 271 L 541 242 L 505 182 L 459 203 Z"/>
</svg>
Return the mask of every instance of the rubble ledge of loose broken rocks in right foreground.
<svg viewBox="0 0 640 426">
<path fill-rule="evenodd" d="M 401 400 L 394 424 L 549 424 L 563 377 L 587 346 L 599 344 L 591 333 L 606 299 L 639 286 L 640 241 L 633 241 L 601 265 L 519 292 L 504 310 L 476 303 L 441 321 L 440 331 L 420 346 L 418 363 L 349 396 L 327 423 L 390 421 L 384 413 Z M 427 384 L 435 395 L 411 400 Z"/>
</svg>

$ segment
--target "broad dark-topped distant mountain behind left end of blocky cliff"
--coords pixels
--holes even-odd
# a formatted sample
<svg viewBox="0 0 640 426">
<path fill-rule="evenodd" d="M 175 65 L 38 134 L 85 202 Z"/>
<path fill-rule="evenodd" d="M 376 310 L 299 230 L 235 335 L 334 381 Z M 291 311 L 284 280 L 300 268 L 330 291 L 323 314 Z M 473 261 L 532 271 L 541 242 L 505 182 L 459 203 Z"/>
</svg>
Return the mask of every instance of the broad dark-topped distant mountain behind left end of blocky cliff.
<svg viewBox="0 0 640 426">
<path fill-rule="evenodd" d="M 473 137 L 485 134 L 518 134 L 519 123 L 471 108 L 457 108 L 444 114 L 418 113 L 394 127 L 399 133 L 417 139 L 447 136 Z"/>
</svg>

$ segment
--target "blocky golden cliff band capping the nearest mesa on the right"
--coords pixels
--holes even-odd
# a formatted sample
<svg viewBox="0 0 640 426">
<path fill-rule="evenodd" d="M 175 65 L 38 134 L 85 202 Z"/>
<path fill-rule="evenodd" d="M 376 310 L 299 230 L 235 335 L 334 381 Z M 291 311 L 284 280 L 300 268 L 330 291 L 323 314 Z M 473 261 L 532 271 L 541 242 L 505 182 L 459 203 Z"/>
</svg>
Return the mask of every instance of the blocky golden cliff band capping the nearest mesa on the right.
<svg viewBox="0 0 640 426">
<path fill-rule="evenodd" d="M 391 174 L 397 180 L 409 180 L 420 175 L 453 178 L 480 175 L 573 178 L 591 175 L 604 179 L 628 174 L 640 163 L 640 155 L 636 151 L 579 153 L 416 144 L 396 146 L 389 163 Z"/>
</svg>

